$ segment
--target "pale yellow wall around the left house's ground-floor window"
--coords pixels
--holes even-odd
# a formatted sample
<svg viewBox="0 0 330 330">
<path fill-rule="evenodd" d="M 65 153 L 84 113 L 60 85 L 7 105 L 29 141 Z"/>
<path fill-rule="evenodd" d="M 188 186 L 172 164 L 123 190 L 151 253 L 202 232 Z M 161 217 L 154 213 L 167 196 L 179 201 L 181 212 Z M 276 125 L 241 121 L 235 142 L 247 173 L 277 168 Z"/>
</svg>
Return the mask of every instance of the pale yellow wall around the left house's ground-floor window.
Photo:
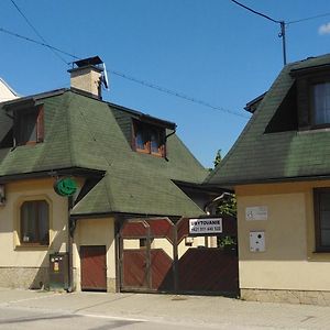
<svg viewBox="0 0 330 330">
<path fill-rule="evenodd" d="M 25 199 L 45 198 L 50 202 L 50 252 L 65 251 L 67 234 L 67 199 L 53 189 L 54 179 L 29 179 L 6 185 L 6 205 L 0 207 L 0 265 L 3 267 L 48 266 L 48 246 L 19 246 L 15 228 L 18 207 Z"/>
</svg>

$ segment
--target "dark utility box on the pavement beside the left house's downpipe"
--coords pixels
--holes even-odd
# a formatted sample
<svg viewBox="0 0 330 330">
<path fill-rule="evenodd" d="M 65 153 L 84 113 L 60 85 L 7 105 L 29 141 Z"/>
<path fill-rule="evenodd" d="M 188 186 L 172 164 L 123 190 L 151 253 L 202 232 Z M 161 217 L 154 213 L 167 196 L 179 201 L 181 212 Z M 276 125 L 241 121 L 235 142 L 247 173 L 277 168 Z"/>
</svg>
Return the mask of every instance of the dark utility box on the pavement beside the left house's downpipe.
<svg viewBox="0 0 330 330">
<path fill-rule="evenodd" d="M 50 290 L 68 289 L 68 253 L 50 254 Z"/>
</svg>

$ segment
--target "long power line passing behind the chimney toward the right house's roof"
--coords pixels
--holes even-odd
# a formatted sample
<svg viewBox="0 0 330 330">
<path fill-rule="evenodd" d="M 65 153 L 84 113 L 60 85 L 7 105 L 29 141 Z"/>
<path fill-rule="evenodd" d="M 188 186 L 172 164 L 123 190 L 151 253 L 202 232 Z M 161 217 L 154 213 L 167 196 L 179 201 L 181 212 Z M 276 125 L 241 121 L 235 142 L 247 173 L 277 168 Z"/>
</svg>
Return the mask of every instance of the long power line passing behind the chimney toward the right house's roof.
<svg viewBox="0 0 330 330">
<path fill-rule="evenodd" d="M 75 59 L 81 59 L 80 57 L 74 55 L 74 54 L 70 54 L 70 53 L 67 53 L 65 51 L 62 51 L 57 47 L 54 47 L 52 45 L 50 45 L 48 43 L 44 43 L 44 42 L 38 42 L 36 40 L 33 40 L 31 37 L 28 37 L 28 36 L 24 36 L 24 35 L 21 35 L 21 34 L 18 34 L 18 33 L 14 33 L 14 32 L 11 32 L 11 31 L 8 31 L 3 28 L 0 28 L 0 32 L 3 32 L 6 34 L 9 34 L 9 35 L 12 35 L 12 36 L 15 36 L 15 37 L 19 37 L 21 40 L 25 40 L 25 41 L 29 41 L 29 42 L 32 42 L 34 44 L 37 44 L 37 45 L 41 45 L 43 47 L 47 47 L 50 50 L 54 50 L 58 53 L 62 53 L 64 55 L 67 55 L 67 56 L 70 56 Z M 213 110 L 218 110 L 218 111 L 222 111 L 222 112 L 227 112 L 227 113 L 230 113 L 230 114 L 234 114 L 234 116 L 238 116 L 238 117 L 242 117 L 242 118 L 245 118 L 245 119 L 249 119 L 250 117 L 246 117 L 244 114 L 241 114 L 241 113 L 238 113 L 238 112 L 234 112 L 234 111 L 231 111 L 231 110 L 228 110 L 228 109 L 224 109 L 224 108 L 221 108 L 221 107 L 217 107 L 217 106 L 212 106 L 211 103 L 207 102 L 207 101 L 204 101 L 204 100 L 200 100 L 200 99 L 196 99 L 196 98 L 193 98 L 190 96 L 187 96 L 187 95 L 184 95 L 182 92 L 178 92 L 178 91 L 175 91 L 175 90 L 172 90 L 172 89 L 168 89 L 168 88 L 165 88 L 165 87 L 161 87 L 158 85 L 155 85 L 155 84 L 151 84 L 151 82 L 147 82 L 145 80 L 142 80 L 142 79 L 138 79 L 135 77 L 132 77 L 132 76 L 129 76 L 129 75 L 125 75 L 123 73 L 120 73 L 120 72 L 117 72 L 117 70 L 107 70 L 108 73 L 111 73 L 116 76 L 119 76 L 119 77 L 122 77 L 127 80 L 130 80 L 130 81 L 133 81 L 133 82 L 136 82 L 136 84 L 140 84 L 142 86 L 145 86 L 145 87 L 148 87 L 148 88 L 152 88 L 152 89 L 156 89 L 158 91 L 162 91 L 164 94 L 167 94 L 167 95 L 172 95 L 172 96 L 175 96 L 177 98 L 182 98 L 182 99 L 185 99 L 185 100 L 188 100 L 190 102 L 194 102 L 194 103 L 198 103 L 200 106 L 204 106 L 204 107 L 207 107 L 207 108 L 211 108 Z"/>
</svg>

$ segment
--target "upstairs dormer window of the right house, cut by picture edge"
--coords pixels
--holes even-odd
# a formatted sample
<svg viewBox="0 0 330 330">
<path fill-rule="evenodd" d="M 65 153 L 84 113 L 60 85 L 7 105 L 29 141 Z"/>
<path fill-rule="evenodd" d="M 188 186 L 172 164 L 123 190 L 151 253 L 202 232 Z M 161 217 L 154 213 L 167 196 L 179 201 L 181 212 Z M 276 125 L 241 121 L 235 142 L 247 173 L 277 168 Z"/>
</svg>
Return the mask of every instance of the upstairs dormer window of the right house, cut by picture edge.
<svg viewBox="0 0 330 330">
<path fill-rule="evenodd" d="M 330 124 L 330 82 L 312 85 L 314 124 Z"/>
</svg>

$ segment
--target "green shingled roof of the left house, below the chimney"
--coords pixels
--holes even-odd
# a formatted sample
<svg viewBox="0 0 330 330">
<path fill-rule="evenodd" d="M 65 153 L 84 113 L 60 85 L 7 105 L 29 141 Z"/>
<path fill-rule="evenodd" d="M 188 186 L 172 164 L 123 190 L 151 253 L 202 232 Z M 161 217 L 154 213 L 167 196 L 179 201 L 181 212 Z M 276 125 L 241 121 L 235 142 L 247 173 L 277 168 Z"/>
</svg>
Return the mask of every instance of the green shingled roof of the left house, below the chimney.
<svg viewBox="0 0 330 330">
<path fill-rule="evenodd" d="M 72 90 L 32 99 L 44 105 L 44 142 L 0 150 L 0 179 L 61 168 L 99 169 L 106 172 L 105 177 L 75 206 L 75 215 L 124 212 L 190 217 L 202 213 L 173 183 L 200 184 L 208 173 L 176 134 L 167 140 L 167 160 L 141 154 L 132 151 L 128 133 L 120 127 L 121 119 L 128 121 L 129 109 Z M 13 103 L 0 108 L 1 132 L 7 133 L 12 125 L 6 111 Z M 131 114 L 144 117 L 136 111 Z M 172 132 L 173 123 L 160 123 L 167 124 L 168 133 Z"/>
</svg>

